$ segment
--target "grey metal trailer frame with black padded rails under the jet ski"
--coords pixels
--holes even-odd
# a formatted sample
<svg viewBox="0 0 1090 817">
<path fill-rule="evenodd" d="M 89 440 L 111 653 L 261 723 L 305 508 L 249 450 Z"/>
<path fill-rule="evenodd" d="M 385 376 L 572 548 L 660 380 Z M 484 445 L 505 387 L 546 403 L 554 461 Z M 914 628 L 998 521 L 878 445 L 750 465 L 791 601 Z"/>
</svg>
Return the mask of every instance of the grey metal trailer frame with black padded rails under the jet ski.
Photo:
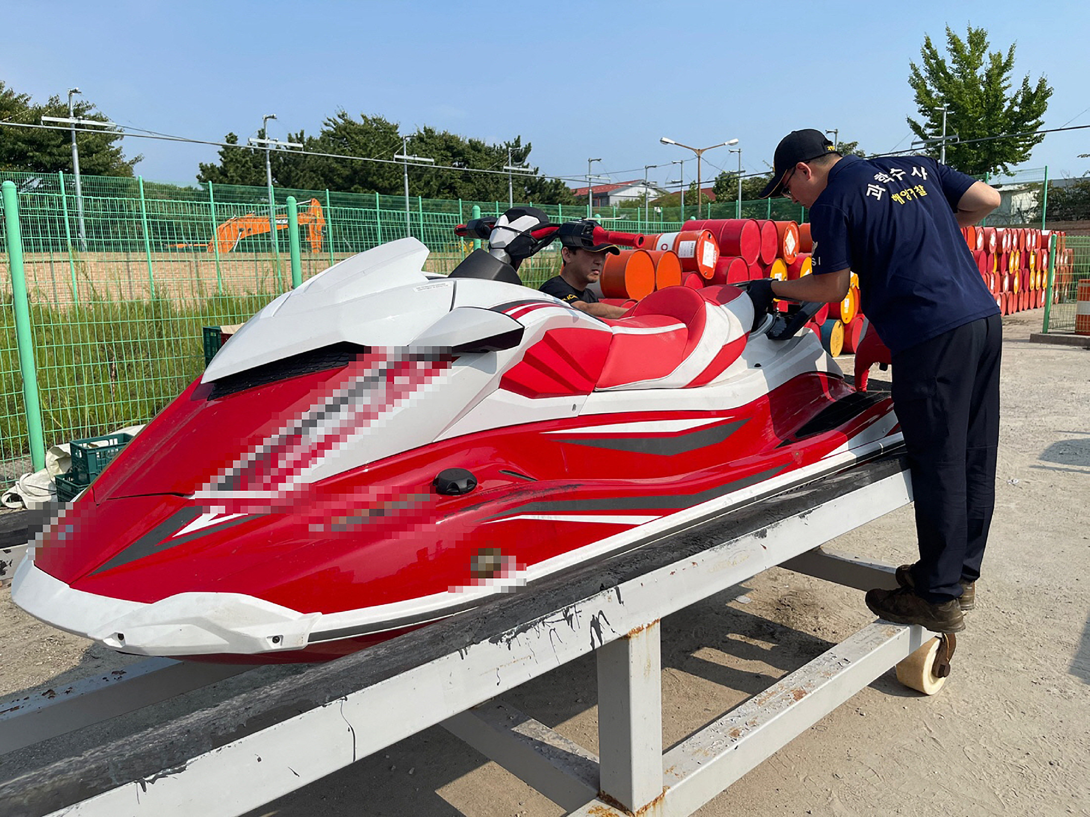
<svg viewBox="0 0 1090 817">
<path fill-rule="evenodd" d="M 904 455 L 886 456 L 315 666 L 259 695 L 36 769 L 0 785 L 0 803 L 29 817 L 239 815 L 443 724 L 571 814 L 688 815 L 932 634 L 870 624 L 664 755 L 661 619 L 776 565 L 856 588 L 893 587 L 891 566 L 821 545 L 909 501 Z M 598 757 L 496 697 L 591 651 Z M 44 740 L 232 670 L 153 659 L 131 668 L 129 680 L 9 712 L 0 746 Z"/>
</svg>

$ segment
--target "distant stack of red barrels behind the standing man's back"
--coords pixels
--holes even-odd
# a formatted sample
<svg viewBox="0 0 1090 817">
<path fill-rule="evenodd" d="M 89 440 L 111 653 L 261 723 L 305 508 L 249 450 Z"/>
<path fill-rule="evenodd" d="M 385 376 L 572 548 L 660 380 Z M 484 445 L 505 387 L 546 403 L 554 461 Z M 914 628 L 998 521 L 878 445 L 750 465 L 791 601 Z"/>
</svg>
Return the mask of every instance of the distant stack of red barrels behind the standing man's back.
<svg viewBox="0 0 1090 817">
<path fill-rule="evenodd" d="M 984 285 L 1004 315 L 1044 306 L 1053 235 L 1056 236 L 1054 298 L 1071 285 L 1073 264 L 1066 233 L 1026 227 L 967 227 L 961 233 Z"/>
</svg>

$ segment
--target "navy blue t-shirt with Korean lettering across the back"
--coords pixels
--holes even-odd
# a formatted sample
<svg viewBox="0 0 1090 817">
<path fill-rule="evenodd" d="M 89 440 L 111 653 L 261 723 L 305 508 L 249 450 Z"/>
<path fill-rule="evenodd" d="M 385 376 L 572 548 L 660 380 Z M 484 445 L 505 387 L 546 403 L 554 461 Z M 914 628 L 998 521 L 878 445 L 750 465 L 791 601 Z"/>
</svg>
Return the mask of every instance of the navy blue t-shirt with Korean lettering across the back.
<svg viewBox="0 0 1090 817">
<path fill-rule="evenodd" d="M 998 307 L 955 218 L 976 180 L 922 156 L 846 156 L 810 210 L 813 271 L 859 276 L 863 314 L 901 352 Z"/>
</svg>

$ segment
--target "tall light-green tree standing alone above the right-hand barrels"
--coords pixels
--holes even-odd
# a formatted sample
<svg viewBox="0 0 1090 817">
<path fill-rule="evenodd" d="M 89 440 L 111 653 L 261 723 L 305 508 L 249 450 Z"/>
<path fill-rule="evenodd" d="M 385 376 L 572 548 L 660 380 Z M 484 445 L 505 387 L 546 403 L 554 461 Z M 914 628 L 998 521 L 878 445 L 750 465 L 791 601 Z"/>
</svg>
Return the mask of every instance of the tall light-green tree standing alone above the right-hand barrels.
<svg viewBox="0 0 1090 817">
<path fill-rule="evenodd" d="M 924 36 L 921 64 L 909 63 L 908 84 L 916 92 L 921 117 L 920 121 L 908 117 L 909 127 L 921 139 L 940 137 L 942 107 L 948 105 L 946 132 L 958 134 L 960 142 L 947 144 L 946 161 L 973 175 L 1008 171 L 1012 164 L 1026 161 L 1044 136 L 968 141 L 1037 131 L 1052 96 L 1044 76 L 1031 84 L 1029 74 L 1010 93 L 1015 46 L 1005 54 L 988 49 L 985 29 L 970 25 L 961 39 L 947 26 L 948 61 L 938 53 L 931 37 Z M 937 157 L 940 146 L 932 146 L 928 153 Z"/>
</svg>

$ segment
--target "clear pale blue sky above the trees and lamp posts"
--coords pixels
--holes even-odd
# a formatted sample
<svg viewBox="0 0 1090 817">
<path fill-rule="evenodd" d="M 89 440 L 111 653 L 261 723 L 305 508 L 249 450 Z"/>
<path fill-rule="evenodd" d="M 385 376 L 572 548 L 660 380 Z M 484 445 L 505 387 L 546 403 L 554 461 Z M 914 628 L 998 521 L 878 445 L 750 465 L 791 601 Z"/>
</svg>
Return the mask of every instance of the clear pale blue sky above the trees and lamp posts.
<svg viewBox="0 0 1090 817">
<path fill-rule="evenodd" d="M 839 129 L 869 151 L 907 148 L 906 82 L 924 34 L 948 24 L 1017 42 L 1015 81 L 1054 88 L 1045 127 L 1090 124 L 1090 3 L 605 2 L 4 3 L 0 80 L 36 100 L 78 86 L 113 121 L 193 138 L 317 133 L 343 108 L 501 142 L 521 135 L 543 172 L 641 178 L 643 166 L 740 139 L 747 172 L 766 169 L 796 127 Z M 14 35 L 14 36 L 12 36 Z M 2 137 L 2 133 L 0 133 Z M 137 173 L 194 183 L 216 148 L 126 139 Z M 1025 168 L 1081 175 L 1090 129 L 1052 134 Z M 383 157 L 391 158 L 391 157 Z M 734 169 L 727 148 L 705 178 Z M 712 167 L 707 168 L 707 163 Z M 687 178 L 695 168 L 686 163 Z M 676 178 L 676 168 L 651 171 Z"/>
</svg>

